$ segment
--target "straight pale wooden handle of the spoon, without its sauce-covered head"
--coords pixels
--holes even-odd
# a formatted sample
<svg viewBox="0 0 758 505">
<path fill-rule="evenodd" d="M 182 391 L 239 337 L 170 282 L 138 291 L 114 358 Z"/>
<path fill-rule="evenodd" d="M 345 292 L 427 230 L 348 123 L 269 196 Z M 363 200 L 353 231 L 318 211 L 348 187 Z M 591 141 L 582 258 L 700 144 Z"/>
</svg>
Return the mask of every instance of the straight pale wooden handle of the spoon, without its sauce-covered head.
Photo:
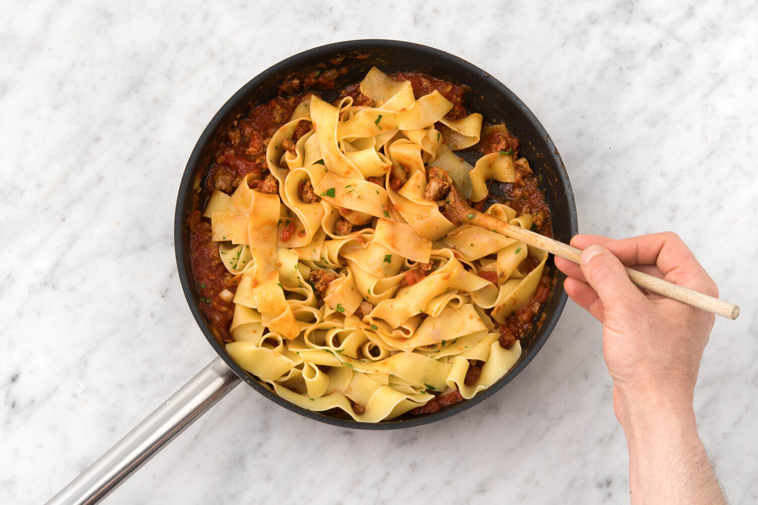
<svg viewBox="0 0 758 505">
<path fill-rule="evenodd" d="M 471 216 L 471 214 L 468 214 Z M 531 232 L 528 229 L 524 229 L 521 226 L 514 226 L 497 219 L 496 217 L 481 214 L 475 212 L 473 217 L 468 220 L 475 226 L 482 226 L 486 229 L 490 229 L 499 232 L 503 235 L 515 238 L 524 242 L 526 245 L 531 245 L 534 248 L 547 251 L 555 254 L 556 256 L 565 258 L 566 260 L 579 263 L 579 254 L 581 249 L 572 247 L 571 245 L 564 244 L 553 240 L 553 238 L 547 238 L 539 233 Z M 727 317 L 728 319 L 735 320 L 740 315 L 740 307 L 735 304 L 730 304 L 728 301 L 719 300 L 719 298 L 713 298 L 712 296 L 703 295 L 692 289 L 683 288 L 680 285 L 666 282 L 663 279 L 649 276 L 647 273 L 638 272 L 631 268 L 626 269 L 626 273 L 629 274 L 629 279 L 634 284 L 641 288 L 647 289 L 658 295 L 663 295 L 666 298 L 672 298 L 672 300 L 681 301 L 684 304 L 697 307 L 699 309 L 707 310 L 708 312 L 715 313 L 717 316 Z"/>
</svg>

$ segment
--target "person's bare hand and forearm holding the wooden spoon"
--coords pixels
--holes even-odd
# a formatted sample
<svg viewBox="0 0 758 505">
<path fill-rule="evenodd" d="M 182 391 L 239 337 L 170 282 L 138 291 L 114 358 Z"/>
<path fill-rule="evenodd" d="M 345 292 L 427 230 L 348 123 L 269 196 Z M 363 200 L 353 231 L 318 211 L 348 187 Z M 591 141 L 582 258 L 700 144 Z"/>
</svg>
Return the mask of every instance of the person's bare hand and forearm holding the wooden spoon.
<svg viewBox="0 0 758 505">
<path fill-rule="evenodd" d="M 624 266 L 719 296 L 671 232 L 612 240 L 576 235 L 581 264 L 556 257 L 565 290 L 603 323 L 613 409 L 629 450 L 632 503 L 726 503 L 697 435 L 692 397 L 715 316 L 648 293 Z"/>
</svg>

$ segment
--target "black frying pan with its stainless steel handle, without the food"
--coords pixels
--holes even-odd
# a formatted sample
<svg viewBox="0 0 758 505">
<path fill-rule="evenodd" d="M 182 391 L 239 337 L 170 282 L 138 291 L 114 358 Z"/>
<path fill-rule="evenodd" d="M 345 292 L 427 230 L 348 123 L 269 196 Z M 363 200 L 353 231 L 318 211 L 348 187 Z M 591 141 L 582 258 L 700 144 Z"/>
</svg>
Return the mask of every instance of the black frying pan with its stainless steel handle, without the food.
<svg viewBox="0 0 758 505">
<path fill-rule="evenodd" d="M 341 61 L 334 59 L 341 55 L 344 55 Z M 189 263 L 187 217 L 193 210 L 193 205 L 202 205 L 196 189 L 202 187 L 203 178 L 224 136 L 225 125 L 240 114 L 246 114 L 255 105 L 274 98 L 280 93 L 281 83 L 293 76 L 305 76 L 317 64 L 327 64 L 327 68 L 342 70 L 343 73 L 335 79 L 337 86 L 332 90 L 301 87 L 296 92 L 322 92 L 327 101 L 336 98 L 336 90 L 359 82 L 372 66 L 379 67 L 385 73 L 420 71 L 468 86 L 468 111 L 483 114 L 487 123 L 506 123 L 521 141 L 521 154 L 528 159 L 535 173 L 542 176 L 540 188 L 545 192 L 545 199 L 553 215 L 555 238 L 568 242 L 577 233 L 574 195 L 563 162 L 547 132 L 526 105 L 506 86 L 468 61 L 425 45 L 368 39 L 322 45 L 275 64 L 236 92 L 208 123 L 189 157 L 177 198 L 174 247 L 179 277 L 189 310 L 218 356 L 48 503 L 99 502 L 241 381 L 275 404 L 317 421 L 355 429 L 410 428 L 453 416 L 490 397 L 517 376 L 547 341 L 566 301 L 562 282 L 564 277 L 555 267 L 550 268 L 555 288 L 543 307 L 540 323 L 522 341 L 523 353 L 515 366 L 491 388 L 471 400 L 453 404 L 435 413 L 423 416 L 406 414 L 390 421 L 364 423 L 341 419 L 328 413 L 312 412 L 284 401 L 268 385 L 259 382 L 234 363 L 224 350 L 223 342 L 211 331 L 211 324 L 200 309 L 201 301 Z M 496 186 L 493 186 L 492 193 L 493 198 L 496 198 Z"/>
</svg>

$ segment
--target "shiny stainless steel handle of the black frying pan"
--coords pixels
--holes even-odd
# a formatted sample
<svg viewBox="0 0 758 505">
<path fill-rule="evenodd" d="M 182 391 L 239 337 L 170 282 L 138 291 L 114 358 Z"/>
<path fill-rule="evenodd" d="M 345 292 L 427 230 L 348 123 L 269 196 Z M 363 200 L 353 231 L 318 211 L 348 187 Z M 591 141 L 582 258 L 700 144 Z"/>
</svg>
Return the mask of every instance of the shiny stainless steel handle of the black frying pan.
<svg viewBox="0 0 758 505">
<path fill-rule="evenodd" d="M 48 505 L 98 503 L 240 383 L 221 357 L 89 465 Z"/>
</svg>

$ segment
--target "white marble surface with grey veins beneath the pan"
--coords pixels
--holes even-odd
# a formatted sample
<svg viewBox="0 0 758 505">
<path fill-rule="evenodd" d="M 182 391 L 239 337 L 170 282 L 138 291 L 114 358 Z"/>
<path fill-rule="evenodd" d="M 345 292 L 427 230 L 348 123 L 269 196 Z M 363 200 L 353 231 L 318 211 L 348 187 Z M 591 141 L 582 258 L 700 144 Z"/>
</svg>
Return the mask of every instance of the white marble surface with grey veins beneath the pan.
<svg viewBox="0 0 758 505">
<path fill-rule="evenodd" d="M 695 403 L 728 496 L 755 503 L 758 11 L 645 4 L 2 2 L 0 503 L 51 497 L 211 360 L 174 264 L 189 152 L 266 67 L 368 37 L 502 80 L 558 146 L 582 232 L 673 229 L 741 304 Z M 626 471 L 600 326 L 569 302 L 453 419 L 349 431 L 238 387 L 107 503 L 624 503 Z"/>
</svg>

